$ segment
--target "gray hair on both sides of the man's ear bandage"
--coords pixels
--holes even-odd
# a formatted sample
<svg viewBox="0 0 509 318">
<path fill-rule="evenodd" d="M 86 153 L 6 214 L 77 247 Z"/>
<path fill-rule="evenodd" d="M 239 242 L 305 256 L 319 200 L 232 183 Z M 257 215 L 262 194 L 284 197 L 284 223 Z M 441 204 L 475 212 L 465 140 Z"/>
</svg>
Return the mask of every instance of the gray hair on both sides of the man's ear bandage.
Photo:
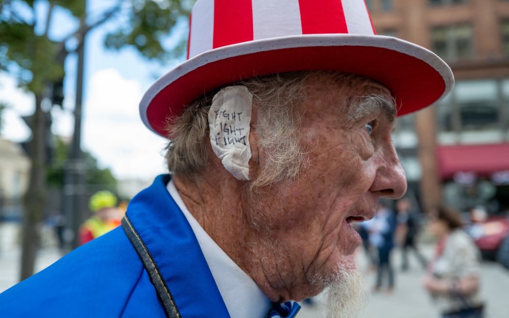
<svg viewBox="0 0 509 318">
<path fill-rule="evenodd" d="M 295 178 L 301 170 L 303 152 L 300 147 L 298 106 L 304 101 L 303 85 L 309 72 L 289 72 L 254 77 L 233 83 L 244 85 L 253 95 L 253 103 L 263 111 L 260 132 L 261 152 L 267 164 L 253 186 Z M 166 163 L 168 170 L 185 178 L 197 178 L 209 163 L 208 111 L 212 91 L 191 103 L 178 118 L 167 121 Z"/>
</svg>

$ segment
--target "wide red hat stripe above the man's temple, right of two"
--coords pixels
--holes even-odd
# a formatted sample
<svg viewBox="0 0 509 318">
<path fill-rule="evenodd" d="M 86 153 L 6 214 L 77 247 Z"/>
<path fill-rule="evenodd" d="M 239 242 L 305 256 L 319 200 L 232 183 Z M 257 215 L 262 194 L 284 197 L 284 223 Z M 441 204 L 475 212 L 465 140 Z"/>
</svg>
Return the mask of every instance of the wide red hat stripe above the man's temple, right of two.
<svg viewBox="0 0 509 318">
<path fill-rule="evenodd" d="M 348 33 L 340 0 L 299 0 L 302 34 Z"/>
</svg>

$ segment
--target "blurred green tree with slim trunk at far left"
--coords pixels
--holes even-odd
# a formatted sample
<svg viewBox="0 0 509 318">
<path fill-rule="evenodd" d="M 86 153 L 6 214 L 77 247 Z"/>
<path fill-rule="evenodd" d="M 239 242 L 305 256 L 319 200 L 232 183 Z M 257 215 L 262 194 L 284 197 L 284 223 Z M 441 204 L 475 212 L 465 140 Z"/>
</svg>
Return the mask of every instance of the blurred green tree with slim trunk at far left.
<svg viewBox="0 0 509 318">
<path fill-rule="evenodd" d="M 89 0 L 91 1 L 91 0 Z M 37 228 L 42 218 L 41 206 L 46 199 L 47 115 L 54 83 L 64 77 L 64 62 L 84 43 L 86 35 L 101 24 L 116 21 L 117 30 L 104 39 L 106 47 L 135 48 L 147 59 L 164 60 L 180 55 L 183 42 L 164 46 L 179 17 L 189 14 L 193 0 L 118 0 L 104 2 L 97 11 L 86 10 L 86 0 L 2 0 L 0 2 L 0 71 L 7 71 L 19 86 L 35 96 L 32 138 L 29 144 L 32 170 L 25 194 L 21 279 L 34 272 L 38 245 Z M 95 7 L 94 7 L 95 8 Z M 52 26 L 76 21 L 64 37 L 55 38 Z M 67 23 L 68 24 L 68 23 Z M 62 32 L 63 30 L 59 30 Z"/>
</svg>

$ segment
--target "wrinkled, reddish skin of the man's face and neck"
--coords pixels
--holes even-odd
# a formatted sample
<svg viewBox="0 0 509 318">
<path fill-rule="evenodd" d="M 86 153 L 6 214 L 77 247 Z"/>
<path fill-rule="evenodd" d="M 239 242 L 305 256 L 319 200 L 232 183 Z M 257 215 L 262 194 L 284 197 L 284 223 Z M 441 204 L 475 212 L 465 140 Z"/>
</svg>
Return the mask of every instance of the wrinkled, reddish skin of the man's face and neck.
<svg viewBox="0 0 509 318">
<path fill-rule="evenodd" d="M 201 182 L 175 179 L 189 211 L 272 301 L 314 296 L 338 264 L 354 268 L 361 240 L 349 222 L 372 218 L 380 197 L 396 199 L 406 191 L 391 141 L 394 105 L 358 111 L 355 105 L 370 94 L 392 100 L 369 79 L 307 79 L 299 129 L 305 166 L 295 180 L 253 195 L 217 158 Z M 264 165 L 256 130 L 263 111 L 256 105 L 252 117 L 250 171 L 256 177 Z"/>
</svg>

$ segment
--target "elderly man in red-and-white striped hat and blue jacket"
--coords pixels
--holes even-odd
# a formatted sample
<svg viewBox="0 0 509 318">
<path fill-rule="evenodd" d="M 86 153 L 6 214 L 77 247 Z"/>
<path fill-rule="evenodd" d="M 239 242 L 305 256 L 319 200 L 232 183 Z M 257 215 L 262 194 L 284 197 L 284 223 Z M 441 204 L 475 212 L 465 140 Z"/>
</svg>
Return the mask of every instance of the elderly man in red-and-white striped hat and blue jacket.
<svg viewBox="0 0 509 318">
<path fill-rule="evenodd" d="M 394 119 L 447 94 L 450 69 L 376 36 L 361 0 L 199 0 L 190 25 L 188 60 L 140 102 L 170 175 L 0 312 L 293 317 L 326 289 L 328 316 L 363 303 L 350 223 L 405 193 Z"/>
</svg>

